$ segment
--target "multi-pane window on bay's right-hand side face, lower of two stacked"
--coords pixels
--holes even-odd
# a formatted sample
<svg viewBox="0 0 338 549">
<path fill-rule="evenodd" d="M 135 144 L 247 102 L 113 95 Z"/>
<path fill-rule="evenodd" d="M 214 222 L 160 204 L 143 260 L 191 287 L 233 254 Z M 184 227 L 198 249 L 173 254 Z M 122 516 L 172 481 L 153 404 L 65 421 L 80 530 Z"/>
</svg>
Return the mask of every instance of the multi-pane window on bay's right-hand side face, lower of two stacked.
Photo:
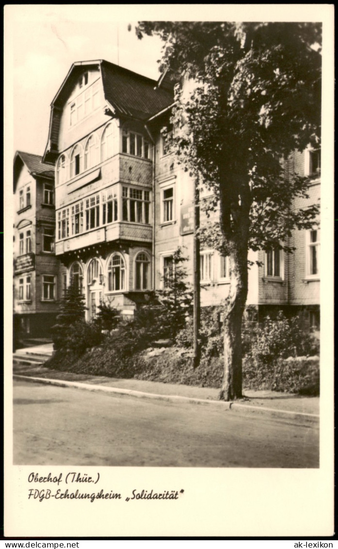
<svg viewBox="0 0 338 549">
<path fill-rule="evenodd" d="M 150 193 L 143 189 L 122 187 L 122 220 L 150 222 Z"/>
</svg>

